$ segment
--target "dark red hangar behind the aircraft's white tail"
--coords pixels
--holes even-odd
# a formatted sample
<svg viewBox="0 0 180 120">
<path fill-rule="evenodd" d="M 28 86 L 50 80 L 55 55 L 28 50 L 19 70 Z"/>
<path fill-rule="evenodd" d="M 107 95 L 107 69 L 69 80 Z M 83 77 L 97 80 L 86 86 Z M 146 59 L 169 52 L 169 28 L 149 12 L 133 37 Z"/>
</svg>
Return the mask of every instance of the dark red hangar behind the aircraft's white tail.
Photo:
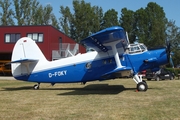
<svg viewBox="0 0 180 120">
<path fill-rule="evenodd" d="M 0 74 L 10 74 L 12 50 L 16 41 L 30 37 L 45 55 L 46 59 L 56 60 L 72 54 L 84 53 L 85 48 L 51 25 L 38 26 L 1 26 L 0 27 Z M 32 53 L 35 54 L 35 53 Z"/>
</svg>

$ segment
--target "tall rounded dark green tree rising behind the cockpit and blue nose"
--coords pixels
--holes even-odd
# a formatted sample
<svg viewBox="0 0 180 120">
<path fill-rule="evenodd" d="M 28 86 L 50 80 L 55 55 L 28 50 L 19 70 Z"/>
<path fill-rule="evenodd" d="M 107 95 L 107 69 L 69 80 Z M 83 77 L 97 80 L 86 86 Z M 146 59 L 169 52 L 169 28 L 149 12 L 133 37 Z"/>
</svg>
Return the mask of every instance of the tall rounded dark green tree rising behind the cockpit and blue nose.
<svg viewBox="0 0 180 120">
<path fill-rule="evenodd" d="M 146 45 L 149 47 L 164 45 L 167 18 L 163 8 L 156 3 L 150 2 L 145 8 L 145 11 L 147 13 L 148 31 L 145 31 L 146 39 L 142 41 L 146 41 Z"/>
</svg>

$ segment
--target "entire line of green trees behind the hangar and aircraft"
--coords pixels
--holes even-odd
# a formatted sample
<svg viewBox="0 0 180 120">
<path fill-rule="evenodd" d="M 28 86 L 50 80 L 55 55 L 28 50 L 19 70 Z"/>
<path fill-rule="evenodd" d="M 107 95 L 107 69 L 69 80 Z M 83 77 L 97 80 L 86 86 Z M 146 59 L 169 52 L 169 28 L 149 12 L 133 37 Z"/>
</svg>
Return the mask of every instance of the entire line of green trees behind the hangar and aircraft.
<svg viewBox="0 0 180 120">
<path fill-rule="evenodd" d="M 121 11 L 105 12 L 84 0 L 73 0 L 72 5 L 73 11 L 60 5 L 61 17 L 56 18 L 53 7 L 43 6 L 38 0 L 0 0 L 0 25 L 52 25 L 76 42 L 104 28 L 121 26 L 128 32 L 131 43 L 142 42 L 150 48 L 170 42 L 174 64 L 180 63 L 180 28 L 174 20 L 166 18 L 163 7 L 157 3 L 149 2 L 136 11 L 124 7 Z"/>
</svg>

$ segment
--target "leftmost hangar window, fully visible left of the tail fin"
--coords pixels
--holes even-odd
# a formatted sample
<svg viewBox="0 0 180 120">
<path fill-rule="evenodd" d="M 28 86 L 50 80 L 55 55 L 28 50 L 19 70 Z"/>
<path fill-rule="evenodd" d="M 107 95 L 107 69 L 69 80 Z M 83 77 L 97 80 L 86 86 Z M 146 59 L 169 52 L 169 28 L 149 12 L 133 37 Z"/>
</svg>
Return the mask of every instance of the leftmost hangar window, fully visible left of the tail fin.
<svg viewBox="0 0 180 120">
<path fill-rule="evenodd" d="M 5 34 L 5 43 L 15 43 L 21 38 L 20 33 Z"/>
</svg>

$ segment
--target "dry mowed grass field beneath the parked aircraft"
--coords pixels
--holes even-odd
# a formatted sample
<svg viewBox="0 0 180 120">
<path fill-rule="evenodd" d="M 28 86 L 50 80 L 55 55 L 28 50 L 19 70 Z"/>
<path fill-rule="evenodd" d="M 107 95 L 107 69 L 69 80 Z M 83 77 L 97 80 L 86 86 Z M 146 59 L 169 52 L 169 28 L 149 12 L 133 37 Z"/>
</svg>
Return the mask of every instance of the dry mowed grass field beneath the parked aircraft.
<svg viewBox="0 0 180 120">
<path fill-rule="evenodd" d="M 0 120 L 179 120 L 180 80 L 147 81 L 136 92 L 132 79 L 86 85 L 0 80 Z"/>
</svg>

